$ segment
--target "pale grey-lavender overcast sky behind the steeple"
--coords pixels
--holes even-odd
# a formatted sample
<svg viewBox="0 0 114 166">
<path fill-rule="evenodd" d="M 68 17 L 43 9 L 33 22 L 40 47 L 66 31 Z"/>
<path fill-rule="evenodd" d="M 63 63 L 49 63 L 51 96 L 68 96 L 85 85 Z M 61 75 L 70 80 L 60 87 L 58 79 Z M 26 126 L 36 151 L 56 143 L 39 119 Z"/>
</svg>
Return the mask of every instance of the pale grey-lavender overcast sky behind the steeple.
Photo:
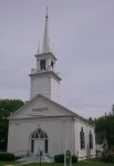
<svg viewBox="0 0 114 166">
<path fill-rule="evenodd" d="M 61 102 L 104 115 L 114 104 L 114 0 L 0 0 L 0 98 L 29 100 L 46 6 Z"/>
</svg>

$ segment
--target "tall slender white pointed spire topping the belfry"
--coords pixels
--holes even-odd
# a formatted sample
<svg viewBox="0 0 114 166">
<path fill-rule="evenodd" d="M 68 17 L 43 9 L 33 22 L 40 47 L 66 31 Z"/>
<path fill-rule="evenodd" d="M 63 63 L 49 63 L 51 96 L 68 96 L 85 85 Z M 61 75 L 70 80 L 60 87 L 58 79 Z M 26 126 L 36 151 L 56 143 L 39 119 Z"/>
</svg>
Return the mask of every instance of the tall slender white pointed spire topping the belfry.
<svg viewBox="0 0 114 166">
<path fill-rule="evenodd" d="M 49 38 L 49 15 L 48 15 L 48 7 L 46 7 L 46 15 L 45 15 L 45 28 L 43 35 L 43 44 L 42 44 L 42 53 L 50 51 L 50 38 Z"/>
</svg>

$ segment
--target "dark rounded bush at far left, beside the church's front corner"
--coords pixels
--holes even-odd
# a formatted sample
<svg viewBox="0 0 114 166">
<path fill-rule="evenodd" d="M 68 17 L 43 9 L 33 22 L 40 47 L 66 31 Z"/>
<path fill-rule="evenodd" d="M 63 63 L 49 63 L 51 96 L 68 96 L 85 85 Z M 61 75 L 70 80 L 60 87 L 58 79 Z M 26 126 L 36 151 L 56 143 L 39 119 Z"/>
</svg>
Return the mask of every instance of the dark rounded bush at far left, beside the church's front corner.
<svg viewBox="0 0 114 166">
<path fill-rule="evenodd" d="M 11 153 L 0 152 L 0 160 L 14 160 L 15 156 Z"/>
</svg>

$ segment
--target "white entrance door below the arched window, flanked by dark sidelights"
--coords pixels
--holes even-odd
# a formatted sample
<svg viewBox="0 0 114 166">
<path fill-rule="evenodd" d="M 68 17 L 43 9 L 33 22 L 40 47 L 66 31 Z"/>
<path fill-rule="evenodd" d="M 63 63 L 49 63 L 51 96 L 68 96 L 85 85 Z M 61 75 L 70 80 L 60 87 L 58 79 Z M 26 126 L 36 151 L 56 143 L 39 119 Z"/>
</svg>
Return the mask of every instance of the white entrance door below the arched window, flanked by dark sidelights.
<svg viewBox="0 0 114 166">
<path fill-rule="evenodd" d="M 42 151 L 44 154 L 44 139 L 34 139 L 34 155 Z"/>
</svg>

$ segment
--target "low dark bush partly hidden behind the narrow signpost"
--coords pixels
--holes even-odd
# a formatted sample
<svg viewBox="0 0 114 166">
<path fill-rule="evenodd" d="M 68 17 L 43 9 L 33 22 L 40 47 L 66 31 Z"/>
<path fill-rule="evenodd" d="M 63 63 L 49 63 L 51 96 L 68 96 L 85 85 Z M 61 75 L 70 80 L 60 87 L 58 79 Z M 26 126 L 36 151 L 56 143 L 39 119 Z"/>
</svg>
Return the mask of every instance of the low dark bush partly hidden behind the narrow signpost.
<svg viewBox="0 0 114 166">
<path fill-rule="evenodd" d="M 64 163 L 64 154 L 55 155 L 54 162 L 55 163 Z M 73 155 L 72 156 L 72 163 L 76 163 L 76 162 L 77 162 L 77 156 Z"/>
</svg>

